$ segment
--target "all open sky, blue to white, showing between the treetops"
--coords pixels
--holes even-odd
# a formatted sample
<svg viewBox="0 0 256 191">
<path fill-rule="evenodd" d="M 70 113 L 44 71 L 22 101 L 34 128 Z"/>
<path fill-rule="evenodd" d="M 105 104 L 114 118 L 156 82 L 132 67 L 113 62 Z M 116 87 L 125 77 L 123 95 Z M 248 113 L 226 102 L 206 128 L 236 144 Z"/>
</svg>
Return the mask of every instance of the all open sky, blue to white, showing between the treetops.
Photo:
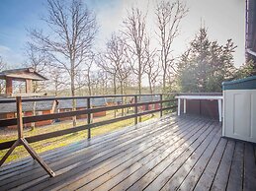
<svg viewBox="0 0 256 191">
<path fill-rule="evenodd" d="M 240 66 L 245 60 L 245 1 L 243 0 L 183 0 L 189 13 L 181 23 L 180 35 L 172 46 L 174 55 L 186 50 L 202 23 L 210 39 L 224 44 L 232 38 L 237 45 L 234 64 Z M 147 31 L 153 37 L 155 28 L 154 7 L 156 0 L 84 0 L 96 13 L 100 26 L 95 49 L 104 49 L 112 32 L 123 26 L 131 6 L 147 13 Z M 26 61 L 25 46 L 29 29 L 47 28 L 41 18 L 46 15 L 45 0 L 0 0 L 0 56 L 11 67 L 20 67 Z M 156 40 L 154 41 L 157 45 Z"/>
</svg>

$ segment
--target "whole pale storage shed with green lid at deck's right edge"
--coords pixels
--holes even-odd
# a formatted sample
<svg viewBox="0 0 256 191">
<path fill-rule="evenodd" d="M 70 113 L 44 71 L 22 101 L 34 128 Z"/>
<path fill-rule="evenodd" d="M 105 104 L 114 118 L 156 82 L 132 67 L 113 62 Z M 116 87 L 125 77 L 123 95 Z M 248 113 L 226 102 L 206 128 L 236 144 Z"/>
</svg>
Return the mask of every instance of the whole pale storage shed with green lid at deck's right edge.
<svg viewBox="0 0 256 191">
<path fill-rule="evenodd" d="M 222 83 L 222 136 L 256 143 L 256 76 Z"/>
</svg>

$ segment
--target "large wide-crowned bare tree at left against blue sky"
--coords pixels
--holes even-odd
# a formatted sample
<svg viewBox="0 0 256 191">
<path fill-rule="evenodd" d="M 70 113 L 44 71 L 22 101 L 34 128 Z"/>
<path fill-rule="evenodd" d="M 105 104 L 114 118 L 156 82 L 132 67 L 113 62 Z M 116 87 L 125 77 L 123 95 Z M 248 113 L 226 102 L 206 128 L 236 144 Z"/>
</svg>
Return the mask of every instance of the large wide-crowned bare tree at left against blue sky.
<svg viewBox="0 0 256 191">
<path fill-rule="evenodd" d="M 82 0 L 47 0 L 47 11 L 43 21 L 51 32 L 45 35 L 42 31 L 33 30 L 30 34 L 37 47 L 67 71 L 71 96 L 75 96 L 76 71 L 91 54 L 98 30 L 96 17 Z M 73 110 L 75 108 L 73 100 Z M 76 125 L 75 118 L 73 125 Z"/>
</svg>

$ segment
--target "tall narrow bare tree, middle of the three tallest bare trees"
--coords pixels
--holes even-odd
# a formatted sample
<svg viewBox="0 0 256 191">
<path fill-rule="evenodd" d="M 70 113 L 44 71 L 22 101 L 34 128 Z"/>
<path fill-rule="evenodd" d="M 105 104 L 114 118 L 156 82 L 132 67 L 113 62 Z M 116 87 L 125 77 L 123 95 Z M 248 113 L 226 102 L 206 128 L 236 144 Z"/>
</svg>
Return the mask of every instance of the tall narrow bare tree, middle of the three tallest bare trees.
<svg viewBox="0 0 256 191">
<path fill-rule="evenodd" d="M 137 76 L 138 94 L 141 95 L 142 76 L 146 67 L 145 40 L 146 40 L 146 15 L 143 15 L 138 8 L 131 8 L 128 18 L 124 21 L 125 31 L 123 32 L 128 40 L 127 58 L 132 71 Z"/>
</svg>

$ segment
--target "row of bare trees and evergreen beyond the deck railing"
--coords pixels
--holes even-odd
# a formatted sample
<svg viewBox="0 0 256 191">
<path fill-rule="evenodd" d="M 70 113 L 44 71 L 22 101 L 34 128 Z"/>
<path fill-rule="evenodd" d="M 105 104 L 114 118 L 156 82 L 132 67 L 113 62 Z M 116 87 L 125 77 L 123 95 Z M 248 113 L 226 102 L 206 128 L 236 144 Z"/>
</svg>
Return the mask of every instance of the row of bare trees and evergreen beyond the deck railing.
<svg viewBox="0 0 256 191">
<path fill-rule="evenodd" d="M 219 92 L 224 80 L 254 71 L 251 62 L 235 68 L 235 44 L 231 39 L 224 45 L 211 41 L 206 28 L 201 28 L 188 49 L 175 57 L 173 42 L 189 12 L 181 0 L 157 2 L 154 35 L 148 32 L 147 13 L 131 7 L 104 50 L 95 49 L 100 26 L 97 15 L 84 1 L 47 0 L 46 10 L 42 20 L 48 30 L 29 30 L 31 39 L 26 45 L 25 65 L 49 79 L 35 82 L 35 93 L 50 89 L 54 96 L 116 95 L 133 88 L 134 94 L 142 94 L 143 81 L 151 94 Z M 0 84 L 1 92 L 3 87 Z"/>
</svg>

